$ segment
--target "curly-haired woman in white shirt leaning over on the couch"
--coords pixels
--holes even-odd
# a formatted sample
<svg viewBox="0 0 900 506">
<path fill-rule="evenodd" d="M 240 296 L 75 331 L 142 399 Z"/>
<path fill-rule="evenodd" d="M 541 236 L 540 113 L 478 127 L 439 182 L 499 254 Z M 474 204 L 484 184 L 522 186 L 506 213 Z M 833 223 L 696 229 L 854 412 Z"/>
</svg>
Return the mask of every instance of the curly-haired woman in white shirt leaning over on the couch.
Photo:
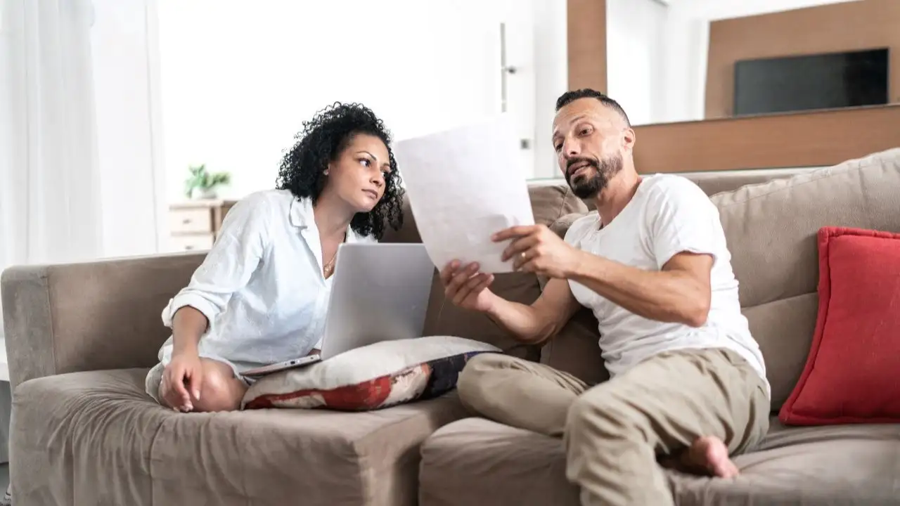
<svg viewBox="0 0 900 506">
<path fill-rule="evenodd" d="M 391 136 L 359 104 L 303 124 L 278 189 L 231 208 L 191 282 L 163 310 L 172 337 L 147 392 L 176 411 L 240 407 L 257 366 L 317 352 L 338 246 L 402 223 Z"/>
</svg>

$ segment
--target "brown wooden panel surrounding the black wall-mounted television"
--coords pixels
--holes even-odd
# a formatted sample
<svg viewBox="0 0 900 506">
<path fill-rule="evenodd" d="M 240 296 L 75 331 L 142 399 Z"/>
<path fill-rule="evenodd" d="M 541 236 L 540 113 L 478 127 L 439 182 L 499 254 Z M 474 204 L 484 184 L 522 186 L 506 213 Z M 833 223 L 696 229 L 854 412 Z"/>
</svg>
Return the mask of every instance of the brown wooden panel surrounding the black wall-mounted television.
<svg viewBox="0 0 900 506">
<path fill-rule="evenodd" d="M 740 59 L 874 48 L 890 48 L 888 93 L 900 102 L 900 1 L 857 0 L 709 23 L 706 117 L 732 115 Z"/>
</svg>

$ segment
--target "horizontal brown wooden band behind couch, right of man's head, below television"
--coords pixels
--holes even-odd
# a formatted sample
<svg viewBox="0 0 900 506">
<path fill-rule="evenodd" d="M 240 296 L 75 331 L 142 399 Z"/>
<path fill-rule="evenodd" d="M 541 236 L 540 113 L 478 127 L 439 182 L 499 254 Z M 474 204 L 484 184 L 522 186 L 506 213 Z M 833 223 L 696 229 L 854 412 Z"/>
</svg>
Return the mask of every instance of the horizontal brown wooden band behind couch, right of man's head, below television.
<svg viewBox="0 0 900 506">
<path fill-rule="evenodd" d="M 644 125 L 635 137 L 644 174 L 823 167 L 900 147 L 900 104 Z"/>
</svg>

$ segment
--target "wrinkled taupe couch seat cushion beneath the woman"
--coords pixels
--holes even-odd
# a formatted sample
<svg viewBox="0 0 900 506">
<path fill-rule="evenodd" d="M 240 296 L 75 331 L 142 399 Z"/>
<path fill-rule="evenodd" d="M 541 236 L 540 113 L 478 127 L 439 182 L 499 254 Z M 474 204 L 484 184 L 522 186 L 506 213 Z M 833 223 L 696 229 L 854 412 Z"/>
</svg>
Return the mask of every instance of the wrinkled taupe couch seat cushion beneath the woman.
<svg viewBox="0 0 900 506">
<path fill-rule="evenodd" d="M 31 380 L 14 395 L 17 504 L 415 504 L 419 444 L 454 394 L 383 411 L 182 414 L 146 369 Z M 302 495 L 298 495 L 302 494 Z"/>
</svg>

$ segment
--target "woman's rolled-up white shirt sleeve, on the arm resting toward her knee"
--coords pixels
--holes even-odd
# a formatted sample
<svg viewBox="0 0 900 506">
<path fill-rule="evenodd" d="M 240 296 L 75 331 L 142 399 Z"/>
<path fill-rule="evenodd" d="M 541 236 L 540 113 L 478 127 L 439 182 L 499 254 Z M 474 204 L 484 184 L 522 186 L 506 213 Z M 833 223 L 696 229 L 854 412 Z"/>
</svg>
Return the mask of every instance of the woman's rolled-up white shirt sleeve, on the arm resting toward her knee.
<svg viewBox="0 0 900 506">
<path fill-rule="evenodd" d="M 202 312 L 212 324 L 231 295 L 247 285 L 262 260 L 269 243 L 270 214 L 265 194 L 250 195 L 231 207 L 218 239 L 194 271 L 191 282 L 163 309 L 166 327 L 172 327 L 175 312 L 184 306 Z"/>
</svg>

